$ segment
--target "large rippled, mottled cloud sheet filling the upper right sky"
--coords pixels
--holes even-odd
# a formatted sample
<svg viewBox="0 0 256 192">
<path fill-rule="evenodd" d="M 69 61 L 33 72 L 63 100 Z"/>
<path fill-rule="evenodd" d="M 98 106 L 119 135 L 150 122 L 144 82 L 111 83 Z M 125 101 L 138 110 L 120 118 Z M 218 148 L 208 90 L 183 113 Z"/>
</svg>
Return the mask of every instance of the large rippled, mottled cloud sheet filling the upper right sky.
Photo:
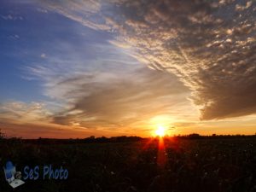
<svg viewBox="0 0 256 192">
<path fill-rule="evenodd" d="M 256 112 L 254 1 L 99 1 L 84 10 L 88 3 L 50 5 L 84 26 L 113 32 L 115 44 L 134 48 L 148 67 L 177 75 L 192 90 L 201 119 Z"/>
</svg>

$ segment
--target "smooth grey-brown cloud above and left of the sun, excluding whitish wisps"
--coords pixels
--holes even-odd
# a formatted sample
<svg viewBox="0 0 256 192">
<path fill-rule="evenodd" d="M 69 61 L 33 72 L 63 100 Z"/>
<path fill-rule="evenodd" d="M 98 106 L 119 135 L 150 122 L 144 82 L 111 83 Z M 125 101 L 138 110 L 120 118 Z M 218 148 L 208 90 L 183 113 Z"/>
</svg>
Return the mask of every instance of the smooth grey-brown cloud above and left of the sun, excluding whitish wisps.
<svg viewBox="0 0 256 192">
<path fill-rule="evenodd" d="M 72 108 L 56 114 L 53 121 L 61 125 L 79 123 L 86 128 L 127 127 L 174 111 L 172 104 L 183 102 L 189 91 L 169 73 L 147 67 L 110 68 L 104 79 L 102 71 L 59 82 L 60 89 L 69 88 L 64 95 L 76 99 L 69 102 Z"/>
</svg>

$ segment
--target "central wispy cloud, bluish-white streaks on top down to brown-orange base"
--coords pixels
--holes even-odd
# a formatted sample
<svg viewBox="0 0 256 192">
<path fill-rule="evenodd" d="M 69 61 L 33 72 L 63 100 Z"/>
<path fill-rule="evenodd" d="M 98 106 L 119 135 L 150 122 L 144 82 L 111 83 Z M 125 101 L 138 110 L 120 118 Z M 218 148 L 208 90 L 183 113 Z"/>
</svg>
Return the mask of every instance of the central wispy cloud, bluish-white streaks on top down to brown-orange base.
<svg viewBox="0 0 256 192">
<path fill-rule="evenodd" d="M 84 128 L 137 127 L 158 115 L 178 119 L 183 114 L 177 108 L 191 108 L 186 101 L 189 90 L 175 76 L 121 58 L 78 61 L 72 67 L 67 61 L 59 63 L 61 68 L 49 59 L 44 67 L 28 67 L 32 76 L 44 80 L 45 94 L 62 103 L 50 115 L 51 122 Z"/>
</svg>

